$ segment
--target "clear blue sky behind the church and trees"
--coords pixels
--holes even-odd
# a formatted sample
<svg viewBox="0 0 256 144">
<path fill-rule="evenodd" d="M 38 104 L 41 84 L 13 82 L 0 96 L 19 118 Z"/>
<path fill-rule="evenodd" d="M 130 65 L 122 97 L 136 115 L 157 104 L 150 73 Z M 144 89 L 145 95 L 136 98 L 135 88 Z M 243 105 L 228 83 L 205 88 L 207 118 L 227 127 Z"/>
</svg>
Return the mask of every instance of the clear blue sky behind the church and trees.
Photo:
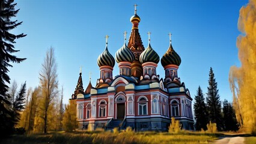
<svg viewBox="0 0 256 144">
<path fill-rule="evenodd" d="M 189 88 L 192 98 L 200 85 L 207 92 L 209 70 L 213 67 L 221 100 L 232 101 L 228 82 L 231 65 L 240 65 L 236 37 L 239 10 L 248 0 L 169 0 L 169 1 L 67 1 L 17 0 L 20 8 L 16 19 L 23 21 L 14 34 L 24 32 L 17 40 L 14 55 L 27 58 L 9 68 L 11 82 L 25 82 L 28 87 L 39 85 L 39 72 L 46 50 L 55 48 L 58 63 L 59 87 L 64 86 L 64 103 L 68 103 L 79 77 L 82 65 L 84 89 L 92 73 L 92 84 L 100 77 L 97 57 L 105 49 L 105 35 L 109 37 L 109 52 L 123 46 L 123 32 L 130 36 L 134 4 L 141 17 L 139 32 L 146 48 L 147 32 L 151 32 L 151 46 L 160 58 L 169 46 L 181 57 L 178 76 Z M 113 76 L 119 69 L 115 63 Z M 162 65 L 157 74 L 164 77 Z M 206 96 L 206 95 L 205 95 Z"/>
</svg>

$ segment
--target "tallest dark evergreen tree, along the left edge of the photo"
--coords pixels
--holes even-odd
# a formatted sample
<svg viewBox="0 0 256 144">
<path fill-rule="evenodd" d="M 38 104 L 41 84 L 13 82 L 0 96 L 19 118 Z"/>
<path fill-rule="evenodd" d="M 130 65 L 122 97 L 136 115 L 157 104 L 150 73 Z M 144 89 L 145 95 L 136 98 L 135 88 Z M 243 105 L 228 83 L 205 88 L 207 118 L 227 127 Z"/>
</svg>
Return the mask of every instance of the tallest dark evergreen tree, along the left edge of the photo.
<svg viewBox="0 0 256 144">
<path fill-rule="evenodd" d="M 15 10 L 13 0 L 0 1 L 0 131 L 5 131 L 4 134 L 10 134 L 13 129 L 11 124 L 12 117 L 11 112 L 7 108 L 10 106 L 8 101 L 8 86 L 10 83 L 10 77 L 8 76 L 8 67 L 12 67 L 10 62 L 22 62 L 25 58 L 17 58 L 11 53 L 19 52 L 15 50 L 14 43 L 17 38 L 25 37 L 25 34 L 11 34 L 10 31 L 22 22 L 13 21 L 13 17 L 16 17 L 19 10 Z"/>
</svg>

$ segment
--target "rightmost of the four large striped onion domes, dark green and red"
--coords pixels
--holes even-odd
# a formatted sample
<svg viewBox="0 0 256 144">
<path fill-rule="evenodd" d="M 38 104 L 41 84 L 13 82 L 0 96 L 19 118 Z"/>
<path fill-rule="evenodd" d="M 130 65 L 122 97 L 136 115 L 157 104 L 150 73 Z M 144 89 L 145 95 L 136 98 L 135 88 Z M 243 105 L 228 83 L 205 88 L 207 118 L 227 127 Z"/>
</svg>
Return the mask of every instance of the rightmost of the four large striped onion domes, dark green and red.
<svg viewBox="0 0 256 144">
<path fill-rule="evenodd" d="M 181 63 L 180 56 L 175 52 L 175 50 L 172 48 L 172 45 L 170 44 L 169 49 L 161 59 L 161 64 L 163 65 L 163 67 L 165 67 L 166 65 L 169 65 L 169 64 L 179 66 L 180 63 Z"/>
</svg>

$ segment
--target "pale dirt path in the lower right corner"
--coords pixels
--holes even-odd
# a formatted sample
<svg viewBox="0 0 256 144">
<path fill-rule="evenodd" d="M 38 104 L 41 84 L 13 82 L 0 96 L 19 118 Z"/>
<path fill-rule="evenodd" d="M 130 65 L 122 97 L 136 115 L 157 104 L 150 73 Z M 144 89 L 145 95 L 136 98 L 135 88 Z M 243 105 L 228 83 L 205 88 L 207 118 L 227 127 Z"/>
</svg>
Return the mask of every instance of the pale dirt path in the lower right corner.
<svg viewBox="0 0 256 144">
<path fill-rule="evenodd" d="M 216 140 L 215 144 L 244 144 L 245 137 L 220 137 Z"/>
</svg>

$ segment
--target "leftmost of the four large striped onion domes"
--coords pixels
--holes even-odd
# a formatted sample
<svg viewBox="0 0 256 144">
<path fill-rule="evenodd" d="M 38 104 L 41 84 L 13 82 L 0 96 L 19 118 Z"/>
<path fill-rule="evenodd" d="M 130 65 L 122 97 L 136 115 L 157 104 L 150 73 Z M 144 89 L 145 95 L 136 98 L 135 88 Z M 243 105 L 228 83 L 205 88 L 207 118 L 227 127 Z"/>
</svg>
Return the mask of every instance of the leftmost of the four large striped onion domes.
<svg viewBox="0 0 256 144">
<path fill-rule="evenodd" d="M 99 55 L 99 57 L 97 59 L 97 63 L 99 65 L 99 67 L 102 67 L 102 66 L 114 67 L 115 59 L 108 52 L 108 46 L 106 46 L 106 49 L 102 52 L 102 54 Z"/>
</svg>

